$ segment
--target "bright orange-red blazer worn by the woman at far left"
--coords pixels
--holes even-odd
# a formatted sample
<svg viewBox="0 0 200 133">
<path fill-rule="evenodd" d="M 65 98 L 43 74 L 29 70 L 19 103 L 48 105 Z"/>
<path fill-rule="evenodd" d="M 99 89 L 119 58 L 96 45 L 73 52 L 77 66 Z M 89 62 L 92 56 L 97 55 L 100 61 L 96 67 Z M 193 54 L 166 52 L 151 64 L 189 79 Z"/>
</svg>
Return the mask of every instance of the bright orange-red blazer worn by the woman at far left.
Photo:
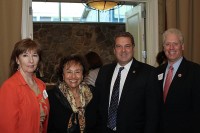
<svg viewBox="0 0 200 133">
<path fill-rule="evenodd" d="M 44 82 L 33 77 L 40 92 L 46 86 Z M 48 112 L 44 121 L 43 133 L 47 132 L 49 113 L 48 98 L 45 99 Z M 1 133 L 39 133 L 40 107 L 35 93 L 25 82 L 21 73 L 17 71 L 6 80 L 0 88 L 0 132 Z"/>
</svg>

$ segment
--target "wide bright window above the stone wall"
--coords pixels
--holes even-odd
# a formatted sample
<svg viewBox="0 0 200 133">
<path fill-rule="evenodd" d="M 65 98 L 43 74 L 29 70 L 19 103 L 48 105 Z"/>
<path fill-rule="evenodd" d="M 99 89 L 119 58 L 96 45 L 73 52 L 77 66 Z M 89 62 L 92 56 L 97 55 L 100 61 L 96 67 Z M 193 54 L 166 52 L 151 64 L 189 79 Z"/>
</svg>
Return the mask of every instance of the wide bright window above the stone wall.
<svg viewBox="0 0 200 133">
<path fill-rule="evenodd" d="M 133 5 L 123 5 L 114 10 L 97 11 L 82 3 L 32 2 L 33 22 L 110 22 L 124 23 L 125 12 Z"/>
</svg>

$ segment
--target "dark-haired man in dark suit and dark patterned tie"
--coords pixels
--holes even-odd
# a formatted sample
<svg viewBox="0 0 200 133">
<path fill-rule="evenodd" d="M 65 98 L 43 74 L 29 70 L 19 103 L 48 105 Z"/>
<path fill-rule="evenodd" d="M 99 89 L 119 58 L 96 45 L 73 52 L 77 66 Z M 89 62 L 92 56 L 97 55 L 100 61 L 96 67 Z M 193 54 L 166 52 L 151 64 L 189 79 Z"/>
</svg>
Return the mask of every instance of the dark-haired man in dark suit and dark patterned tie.
<svg viewBox="0 0 200 133">
<path fill-rule="evenodd" d="M 156 86 L 155 69 L 133 58 L 135 43 L 130 33 L 119 33 L 114 40 L 117 62 L 103 66 L 96 80 L 95 133 L 157 133 L 160 95 Z M 112 119 L 115 112 L 111 109 L 112 97 L 120 67 L 123 67 L 123 70 L 119 83 L 118 105 L 116 116 Z M 115 121 L 114 126 L 110 119 Z"/>
</svg>

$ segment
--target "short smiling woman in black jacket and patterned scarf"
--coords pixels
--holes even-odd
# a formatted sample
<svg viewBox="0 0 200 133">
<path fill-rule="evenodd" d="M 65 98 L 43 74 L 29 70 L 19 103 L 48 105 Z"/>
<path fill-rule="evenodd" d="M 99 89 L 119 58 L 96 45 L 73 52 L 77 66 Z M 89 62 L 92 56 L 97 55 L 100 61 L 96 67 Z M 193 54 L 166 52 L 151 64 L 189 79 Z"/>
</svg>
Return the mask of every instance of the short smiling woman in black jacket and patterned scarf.
<svg viewBox="0 0 200 133">
<path fill-rule="evenodd" d="M 48 91 L 50 114 L 48 133 L 84 133 L 85 110 L 93 94 L 83 81 L 86 67 L 79 55 L 61 59 L 58 74 L 60 81 Z"/>
</svg>

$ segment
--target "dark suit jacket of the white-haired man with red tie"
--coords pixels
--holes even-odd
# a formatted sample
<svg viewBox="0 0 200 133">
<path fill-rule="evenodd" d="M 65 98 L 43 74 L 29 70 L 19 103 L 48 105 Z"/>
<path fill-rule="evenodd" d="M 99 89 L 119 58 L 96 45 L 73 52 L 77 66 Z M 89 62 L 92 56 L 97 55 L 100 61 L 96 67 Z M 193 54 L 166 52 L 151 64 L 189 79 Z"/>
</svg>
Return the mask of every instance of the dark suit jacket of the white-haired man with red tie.
<svg viewBox="0 0 200 133">
<path fill-rule="evenodd" d="M 157 68 L 163 91 L 167 64 Z M 162 130 L 164 133 L 200 133 L 200 66 L 183 58 L 163 103 Z"/>
</svg>

